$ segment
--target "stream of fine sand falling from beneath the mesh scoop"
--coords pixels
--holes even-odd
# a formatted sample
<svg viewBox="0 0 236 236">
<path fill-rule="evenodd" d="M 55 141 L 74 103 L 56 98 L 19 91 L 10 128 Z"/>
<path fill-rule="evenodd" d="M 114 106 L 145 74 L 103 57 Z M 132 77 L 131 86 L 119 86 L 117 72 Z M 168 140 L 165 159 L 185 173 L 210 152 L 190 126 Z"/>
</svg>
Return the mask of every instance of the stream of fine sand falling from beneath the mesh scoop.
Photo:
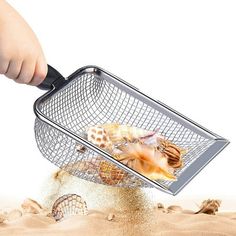
<svg viewBox="0 0 236 236">
<path fill-rule="evenodd" d="M 43 205 L 52 207 L 63 194 L 77 193 L 93 209 L 116 209 L 126 213 L 146 212 L 152 207 L 146 194 L 140 188 L 120 188 L 91 183 L 69 175 L 63 170 L 53 173 L 46 181 L 43 191 Z"/>
</svg>

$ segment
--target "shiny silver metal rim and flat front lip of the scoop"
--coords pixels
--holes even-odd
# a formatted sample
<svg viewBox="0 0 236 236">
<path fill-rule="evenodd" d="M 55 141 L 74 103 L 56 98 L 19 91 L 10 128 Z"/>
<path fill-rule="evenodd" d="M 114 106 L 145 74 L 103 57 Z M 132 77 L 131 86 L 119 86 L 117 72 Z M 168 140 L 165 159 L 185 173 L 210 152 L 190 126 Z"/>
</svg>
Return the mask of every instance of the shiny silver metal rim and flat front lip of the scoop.
<svg viewBox="0 0 236 236">
<path fill-rule="evenodd" d="M 129 167 L 125 166 L 124 164 L 120 163 L 119 161 L 115 160 L 109 153 L 106 151 L 98 148 L 97 146 L 93 145 L 92 143 L 88 142 L 83 137 L 80 137 L 74 132 L 71 132 L 70 130 L 66 130 L 63 128 L 60 124 L 57 122 L 51 120 L 49 117 L 45 116 L 39 109 L 39 105 L 44 100 L 51 97 L 53 94 L 57 93 L 61 89 L 63 89 L 67 84 L 69 84 L 72 80 L 78 78 L 78 76 L 83 75 L 85 73 L 93 73 L 95 76 L 102 77 L 103 79 L 115 84 L 118 88 L 126 91 L 127 93 L 131 94 L 133 97 L 137 99 L 141 99 L 144 103 L 151 106 L 154 109 L 158 109 L 158 111 L 161 111 L 163 114 L 167 115 L 168 117 L 171 117 L 175 120 L 178 120 L 178 122 L 182 125 L 184 125 L 187 128 L 190 128 L 195 133 L 209 138 L 213 139 L 215 142 L 213 145 L 211 145 L 205 152 L 198 157 L 197 160 L 194 161 L 194 165 L 190 165 L 178 178 L 178 181 L 171 184 L 170 188 L 166 188 L 163 184 L 154 182 L 145 176 L 139 174 L 138 172 L 130 169 Z M 197 124 L 196 122 L 190 120 L 189 118 L 185 117 L 184 115 L 178 113 L 177 111 L 171 109 L 164 103 L 160 101 L 156 101 L 147 95 L 140 92 L 136 87 L 130 85 L 126 81 L 112 75 L 111 73 L 96 67 L 96 66 L 86 66 L 83 67 L 76 72 L 74 72 L 72 75 L 70 75 L 68 78 L 66 78 L 64 81 L 56 81 L 53 85 L 52 90 L 48 91 L 46 94 L 38 98 L 34 104 L 34 112 L 36 116 L 46 122 L 47 124 L 51 125 L 52 127 L 58 129 L 59 131 L 63 132 L 64 134 L 68 135 L 72 139 L 82 143 L 87 148 L 93 150 L 94 152 L 102 155 L 105 157 L 108 161 L 114 163 L 115 165 L 118 165 L 123 170 L 141 178 L 146 183 L 150 184 L 151 186 L 158 188 L 166 193 L 176 195 L 205 165 L 207 165 L 221 150 L 223 150 L 228 144 L 229 141 L 222 138 L 221 136 L 214 134 L 213 132 L 207 130 L 206 128 L 202 127 L 201 125 Z"/>
</svg>

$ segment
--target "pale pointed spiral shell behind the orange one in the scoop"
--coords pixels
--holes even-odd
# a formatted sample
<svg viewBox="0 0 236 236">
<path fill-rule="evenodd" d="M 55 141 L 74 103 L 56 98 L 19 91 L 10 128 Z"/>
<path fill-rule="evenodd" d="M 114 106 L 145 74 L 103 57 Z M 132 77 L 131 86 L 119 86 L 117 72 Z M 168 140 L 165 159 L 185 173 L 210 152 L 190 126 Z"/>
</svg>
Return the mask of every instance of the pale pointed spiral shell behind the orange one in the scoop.
<svg viewBox="0 0 236 236">
<path fill-rule="evenodd" d="M 120 125 L 118 123 L 103 124 L 101 127 L 105 129 L 113 144 L 133 142 L 141 137 L 153 135 L 155 133 L 154 131 L 132 127 L 129 125 Z"/>
</svg>

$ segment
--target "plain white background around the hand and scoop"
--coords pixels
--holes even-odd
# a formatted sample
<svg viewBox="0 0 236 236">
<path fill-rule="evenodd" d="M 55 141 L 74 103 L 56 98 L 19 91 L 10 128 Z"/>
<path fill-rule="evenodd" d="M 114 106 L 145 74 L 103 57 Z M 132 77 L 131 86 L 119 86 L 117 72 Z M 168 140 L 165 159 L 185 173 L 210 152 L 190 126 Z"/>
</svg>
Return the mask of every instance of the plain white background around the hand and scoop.
<svg viewBox="0 0 236 236">
<path fill-rule="evenodd" d="M 225 199 L 228 209 L 236 198 L 235 1 L 9 2 L 63 75 L 98 65 L 229 139 L 178 196 L 149 190 L 159 201 Z M 34 139 L 33 102 L 42 94 L 0 76 L 0 200 L 8 204 L 39 199 L 55 170 Z"/>
</svg>

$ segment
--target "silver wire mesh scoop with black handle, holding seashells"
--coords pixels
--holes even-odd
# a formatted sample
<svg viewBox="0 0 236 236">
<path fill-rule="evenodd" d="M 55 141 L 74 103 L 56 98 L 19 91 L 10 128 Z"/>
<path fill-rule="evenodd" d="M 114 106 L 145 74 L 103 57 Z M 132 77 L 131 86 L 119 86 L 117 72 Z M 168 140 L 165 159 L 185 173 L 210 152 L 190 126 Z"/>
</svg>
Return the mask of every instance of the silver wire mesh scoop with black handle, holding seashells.
<svg viewBox="0 0 236 236">
<path fill-rule="evenodd" d="M 58 167 L 88 181 L 156 187 L 175 195 L 229 143 L 98 67 L 81 68 L 65 79 L 49 66 L 41 88 L 50 90 L 34 105 L 40 151 Z M 85 138 L 86 127 L 114 122 L 158 129 L 168 140 L 187 149 L 183 167 L 174 173 L 177 181 L 150 180 Z M 101 165 L 109 169 L 110 178 L 101 176 Z"/>
</svg>

